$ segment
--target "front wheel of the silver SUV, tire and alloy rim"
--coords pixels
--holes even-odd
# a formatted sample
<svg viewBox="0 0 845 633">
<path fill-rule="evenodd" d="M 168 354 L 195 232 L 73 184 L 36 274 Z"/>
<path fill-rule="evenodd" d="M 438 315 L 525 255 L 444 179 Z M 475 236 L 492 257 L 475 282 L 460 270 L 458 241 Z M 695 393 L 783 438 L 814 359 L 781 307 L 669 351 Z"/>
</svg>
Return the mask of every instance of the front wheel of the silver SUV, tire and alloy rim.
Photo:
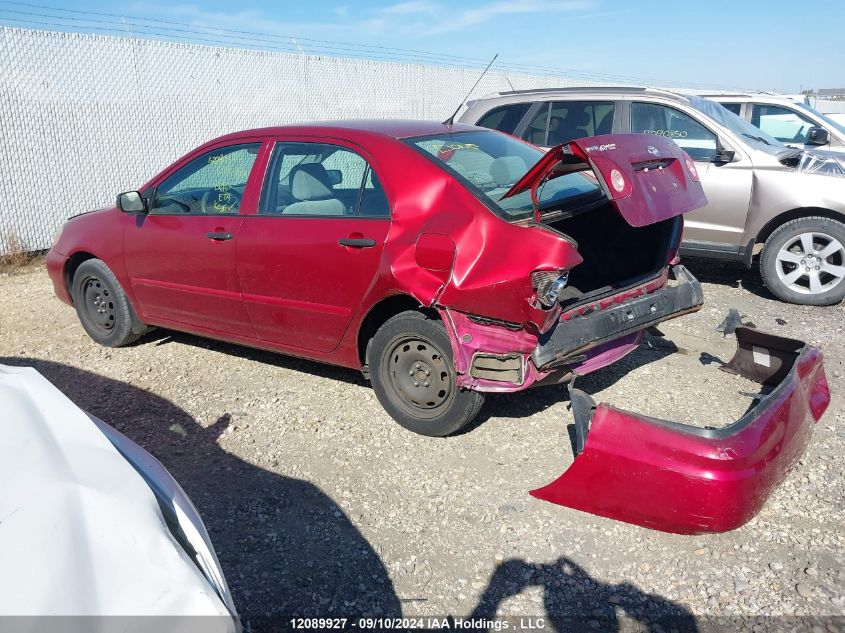
<svg viewBox="0 0 845 633">
<path fill-rule="evenodd" d="M 812 244 L 812 252 L 804 252 L 805 240 Z M 845 270 L 845 250 L 838 248 L 820 257 L 826 246 L 836 248 L 835 242 L 845 246 L 842 222 L 814 216 L 782 224 L 763 246 L 760 256 L 763 283 L 773 295 L 788 303 L 816 306 L 839 303 L 845 297 L 845 278 L 830 271 Z"/>
</svg>

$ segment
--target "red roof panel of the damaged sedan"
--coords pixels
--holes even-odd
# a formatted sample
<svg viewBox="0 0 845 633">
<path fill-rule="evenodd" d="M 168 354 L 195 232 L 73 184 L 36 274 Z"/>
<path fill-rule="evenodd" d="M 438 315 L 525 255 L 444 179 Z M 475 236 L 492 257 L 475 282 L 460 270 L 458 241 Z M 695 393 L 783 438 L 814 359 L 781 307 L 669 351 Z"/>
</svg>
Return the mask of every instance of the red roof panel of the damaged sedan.
<svg viewBox="0 0 845 633">
<path fill-rule="evenodd" d="M 272 127 L 254 128 L 241 130 L 226 134 L 214 141 L 241 138 L 244 136 L 337 136 L 349 140 L 364 139 L 367 137 L 379 138 L 408 138 L 413 136 L 427 136 L 432 134 L 443 134 L 449 132 L 468 132 L 471 130 L 482 130 L 474 125 L 466 123 L 454 123 L 446 125 L 439 121 L 426 121 L 415 119 L 352 119 L 348 121 L 317 121 L 313 123 L 296 123 L 292 125 L 277 125 Z"/>
</svg>

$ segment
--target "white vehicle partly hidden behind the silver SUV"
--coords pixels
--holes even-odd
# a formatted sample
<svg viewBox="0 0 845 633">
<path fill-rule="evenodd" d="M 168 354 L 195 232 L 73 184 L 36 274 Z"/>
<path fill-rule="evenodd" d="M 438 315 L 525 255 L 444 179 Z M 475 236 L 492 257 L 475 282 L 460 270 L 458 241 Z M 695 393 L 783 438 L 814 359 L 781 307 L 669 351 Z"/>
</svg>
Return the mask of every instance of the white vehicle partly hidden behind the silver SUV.
<svg viewBox="0 0 845 633">
<path fill-rule="evenodd" d="M 785 95 L 699 92 L 784 145 L 845 154 L 845 126 Z"/>
</svg>

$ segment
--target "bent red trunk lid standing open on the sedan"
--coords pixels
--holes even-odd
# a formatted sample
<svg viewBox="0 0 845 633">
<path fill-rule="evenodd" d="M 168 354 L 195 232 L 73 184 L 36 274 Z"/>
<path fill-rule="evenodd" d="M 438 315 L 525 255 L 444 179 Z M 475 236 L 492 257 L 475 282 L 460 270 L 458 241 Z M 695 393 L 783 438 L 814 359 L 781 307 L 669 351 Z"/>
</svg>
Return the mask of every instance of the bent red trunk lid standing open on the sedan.
<svg viewBox="0 0 845 633">
<path fill-rule="evenodd" d="M 707 204 L 695 165 L 670 139 L 650 134 L 607 134 L 551 148 L 502 199 L 531 192 L 541 221 L 538 190 L 545 182 L 592 170 L 607 198 L 631 226 L 641 227 Z"/>
</svg>

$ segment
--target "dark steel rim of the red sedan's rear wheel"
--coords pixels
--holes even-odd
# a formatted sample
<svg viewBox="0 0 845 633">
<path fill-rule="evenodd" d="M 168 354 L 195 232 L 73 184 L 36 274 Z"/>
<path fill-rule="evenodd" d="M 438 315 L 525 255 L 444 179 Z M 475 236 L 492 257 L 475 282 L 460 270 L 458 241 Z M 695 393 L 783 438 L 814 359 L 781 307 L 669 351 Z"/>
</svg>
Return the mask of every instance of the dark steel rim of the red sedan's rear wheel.
<svg viewBox="0 0 845 633">
<path fill-rule="evenodd" d="M 411 415 L 432 419 L 455 394 L 453 371 L 440 349 L 425 337 L 404 336 L 390 347 L 387 383 Z"/>
</svg>

